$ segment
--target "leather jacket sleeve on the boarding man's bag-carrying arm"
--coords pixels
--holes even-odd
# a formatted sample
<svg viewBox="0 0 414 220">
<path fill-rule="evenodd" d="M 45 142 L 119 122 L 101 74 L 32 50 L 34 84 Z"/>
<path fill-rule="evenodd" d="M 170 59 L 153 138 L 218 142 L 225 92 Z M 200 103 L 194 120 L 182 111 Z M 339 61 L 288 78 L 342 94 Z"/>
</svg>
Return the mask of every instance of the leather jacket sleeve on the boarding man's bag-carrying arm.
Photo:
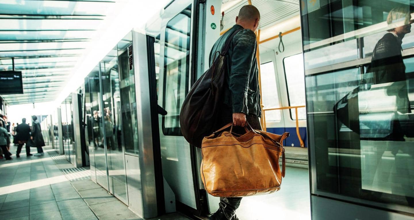
<svg viewBox="0 0 414 220">
<path fill-rule="evenodd" d="M 233 113 L 248 114 L 247 91 L 255 51 L 256 35 L 253 31 L 244 29 L 234 36 L 229 74 L 229 89 Z"/>
</svg>

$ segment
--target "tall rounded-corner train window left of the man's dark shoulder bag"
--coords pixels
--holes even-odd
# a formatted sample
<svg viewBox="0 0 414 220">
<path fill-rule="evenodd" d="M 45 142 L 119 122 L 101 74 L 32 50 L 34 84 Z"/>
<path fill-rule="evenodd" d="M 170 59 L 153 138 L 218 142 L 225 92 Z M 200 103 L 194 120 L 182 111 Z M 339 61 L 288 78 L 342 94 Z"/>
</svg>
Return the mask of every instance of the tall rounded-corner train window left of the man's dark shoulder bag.
<svg viewBox="0 0 414 220">
<path fill-rule="evenodd" d="M 163 107 L 168 114 L 162 117 L 164 135 L 181 135 L 180 109 L 190 76 L 190 27 L 191 6 L 168 21 L 165 30 Z"/>
</svg>

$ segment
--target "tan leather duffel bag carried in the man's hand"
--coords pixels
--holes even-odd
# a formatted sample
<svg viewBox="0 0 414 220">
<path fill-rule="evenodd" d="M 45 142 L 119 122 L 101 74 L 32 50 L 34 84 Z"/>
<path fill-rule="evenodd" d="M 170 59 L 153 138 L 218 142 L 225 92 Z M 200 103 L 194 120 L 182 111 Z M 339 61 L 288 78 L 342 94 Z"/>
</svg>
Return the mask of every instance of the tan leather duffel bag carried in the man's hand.
<svg viewBox="0 0 414 220">
<path fill-rule="evenodd" d="M 230 131 L 224 131 L 229 127 Z M 212 196 L 241 197 L 278 191 L 285 175 L 282 141 L 289 133 L 275 135 L 253 130 L 248 124 L 246 134 L 237 135 L 232 130 L 229 123 L 202 141 L 200 170 L 207 192 Z"/>
</svg>

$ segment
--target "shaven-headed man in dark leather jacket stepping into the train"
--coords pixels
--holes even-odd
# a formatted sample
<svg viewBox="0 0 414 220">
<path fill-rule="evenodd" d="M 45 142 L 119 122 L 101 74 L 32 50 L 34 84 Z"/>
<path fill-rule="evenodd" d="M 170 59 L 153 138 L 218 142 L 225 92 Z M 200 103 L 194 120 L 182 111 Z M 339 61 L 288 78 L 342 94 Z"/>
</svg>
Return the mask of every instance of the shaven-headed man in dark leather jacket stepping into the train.
<svg viewBox="0 0 414 220">
<path fill-rule="evenodd" d="M 229 29 L 214 44 L 210 52 L 210 66 L 217 52 L 234 31 L 230 48 L 227 52 L 229 73 L 226 76 L 227 87 L 224 89 L 224 103 L 221 116 L 218 118 L 217 129 L 233 121 L 233 125 L 245 126 L 246 122 L 255 130 L 262 130 L 260 125 L 261 109 L 258 81 L 258 64 L 256 59 L 256 35 L 260 13 L 253 5 L 245 5 L 236 17 L 236 25 Z M 241 128 L 241 127 L 238 127 Z M 236 130 L 237 128 L 233 129 Z M 244 129 L 241 129 L 243 133 Z M 237 133 L 237 132 L 236 132 Z M 209 220 L 238 220 L 236 209 L 241 197 L 220 198 L 219 210 Z"/>
</svg>

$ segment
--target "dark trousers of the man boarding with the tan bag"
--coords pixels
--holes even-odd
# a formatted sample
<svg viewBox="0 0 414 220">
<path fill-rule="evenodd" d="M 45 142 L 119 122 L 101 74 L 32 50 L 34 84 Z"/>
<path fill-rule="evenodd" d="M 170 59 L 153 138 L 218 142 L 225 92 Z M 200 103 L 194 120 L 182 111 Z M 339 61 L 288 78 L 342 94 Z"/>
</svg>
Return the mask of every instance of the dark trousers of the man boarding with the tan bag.
<svg viewBox="0 0 414 220">
<path fill-rule="evenodd" d="M 219 128 L 233 121 L 233 118 L 229 118 L 229 117 L 225 117 L 221 119 L 222 120 L 219 123 L 221 126 L 219 126 Z M 259 117 L 246 116 L 246 120 L 253 129 L 262 130 L 262 125 L 260 124 Z M 233 132 L 238 133 L 238 134 L 243 134 L 245 131 L 244 131 L 244 128 L 236 126 L 233 128 Z M 227 219 L 233 218 L 233 216 L 236 214 L 236 209 L 238 208 L 238 206 L 240 206 L 241 199 L 242 197 L 220 197 L 219 206 Z"/>
</svg>

